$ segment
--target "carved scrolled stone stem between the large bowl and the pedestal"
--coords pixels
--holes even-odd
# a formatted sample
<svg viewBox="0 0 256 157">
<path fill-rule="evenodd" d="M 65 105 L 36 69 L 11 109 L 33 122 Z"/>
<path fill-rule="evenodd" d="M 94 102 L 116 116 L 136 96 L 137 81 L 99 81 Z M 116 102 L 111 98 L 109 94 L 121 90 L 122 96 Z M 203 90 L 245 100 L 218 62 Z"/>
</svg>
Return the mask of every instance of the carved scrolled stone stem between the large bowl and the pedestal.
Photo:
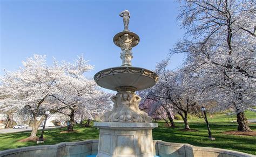
<svg viewBox="0 0 256 157">
<path fill-rule="evenodd" d="M 118 93 L 111 98 L 113 110 L 106 112 L 101 119 L 109 122 L 151 122 L 151 117 L 146 112 L 139 110 L 142 100 L 133 93 Z"/>
</svg>

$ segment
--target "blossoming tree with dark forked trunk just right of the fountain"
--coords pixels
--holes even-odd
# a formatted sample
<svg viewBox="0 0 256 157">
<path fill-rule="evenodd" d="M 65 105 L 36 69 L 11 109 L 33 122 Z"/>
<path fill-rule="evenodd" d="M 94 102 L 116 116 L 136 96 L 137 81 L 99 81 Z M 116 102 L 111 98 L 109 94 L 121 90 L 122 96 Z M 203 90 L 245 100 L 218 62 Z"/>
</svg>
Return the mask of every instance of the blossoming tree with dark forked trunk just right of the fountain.
<svg viewBox="0 0 256 157">
<path fill-rule="evenodd" d="M 165 61 L 166 63 L 166 61 Z M 166 64 L 165 64 L 166 65 Z M 166 67 L 164 67 L 165 69 Z M 187 76 L 183 71 L 163 70 L 159 73 L 159 83 L 156 85 L 160 89 L 154 97 L 165 99 L 184 121 L 185 129 L 190 129 L 188 125 L 188 112 L 196 105 L 192 77 Z"/>
</svg>

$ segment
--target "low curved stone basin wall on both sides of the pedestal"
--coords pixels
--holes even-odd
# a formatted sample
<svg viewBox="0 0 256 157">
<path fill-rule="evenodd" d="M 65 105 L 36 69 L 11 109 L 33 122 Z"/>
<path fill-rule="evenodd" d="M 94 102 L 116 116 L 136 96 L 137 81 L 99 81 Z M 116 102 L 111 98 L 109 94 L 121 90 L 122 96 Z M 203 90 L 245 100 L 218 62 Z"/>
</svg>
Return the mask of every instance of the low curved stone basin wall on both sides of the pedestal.
<svg viewBox="0 0 256 157">
<path fill-rule="evenodd" d="M 211 148 L 211 147 L 196 147 L 189 144 L 177 144 L 164 142 L 161 140 L 153 140 L 154 155 L 160 157 L 165 156 L 218 156 L 218 157 L 245 157 L 255 156 L 227 149 Z M 59 157 L 59 156 L 87 156 L 97 154 L 98 140 L 86 140 L 79 142 L 62 142 L 56 145 L 31 146 L 16 149 L 9 149 L 0 152 L 3 157 L 23 157 L 23 156 L 41 156 L 41 157 Z"/>
</svg>

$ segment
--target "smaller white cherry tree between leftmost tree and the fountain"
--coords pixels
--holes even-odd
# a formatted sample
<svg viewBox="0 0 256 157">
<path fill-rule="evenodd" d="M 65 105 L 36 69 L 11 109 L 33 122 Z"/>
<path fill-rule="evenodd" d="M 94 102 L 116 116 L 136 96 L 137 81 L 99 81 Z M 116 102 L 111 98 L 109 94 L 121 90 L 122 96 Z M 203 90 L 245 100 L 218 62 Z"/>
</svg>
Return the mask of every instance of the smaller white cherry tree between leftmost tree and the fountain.
<svg viewBox="0 0 256 157">
<path fill-rule="evenodd" d="M 76 115 L 83 114 L 90 122 L 96 114 L 101 115 L 111 109 L 110 94 L 100 91 L 94 81 L 87 80 L 83 76 L 64 80 L 64 86 L 63 83 L 57 85 L 59 92 L 51 95 L 55 98 L 54 101 L 58 101 L 58 108 L 53 109 L 52 112 L 69 117 L 68 131 L 73 131 Z"/>
</svg>

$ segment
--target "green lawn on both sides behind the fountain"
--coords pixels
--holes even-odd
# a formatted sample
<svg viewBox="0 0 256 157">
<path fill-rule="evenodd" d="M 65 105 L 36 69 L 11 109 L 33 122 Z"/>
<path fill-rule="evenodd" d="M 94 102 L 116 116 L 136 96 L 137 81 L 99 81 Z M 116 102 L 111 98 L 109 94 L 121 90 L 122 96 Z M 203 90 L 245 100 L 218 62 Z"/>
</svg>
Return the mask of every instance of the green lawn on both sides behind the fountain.
<svg viewBox="0 0 256 157">
<path fill-rule="evenodd" d="M 256 113 L 246 111 L 246 116 L 250 119 L 256 119 Z M 235 115 L 233 115 L 234 121 Z M 180 131 L 184 128 L 181 121 L 175 121 L 177 127 L 166 127 L 164 121 L 158 121 L 158 128 L 153 129 L 153 139 L 163 140 L 167 142 L 186 143 L 194 146 L 216 147 L 223 149 L 231 149 L 233 151 L 245 152 L 256 155 L 256 136 L 226 135 L 225 131 L 235 131 L 237 123 L 228 120 L 225 113 L 212 115 L 209 118 L 212 135 L 215 138 L 211 141 L 207 138 L 208 132 L 205 122 L 202 119 L 192 117 L 189 124 L 191 129 L 197 129 L 198 132 Z M 251 129 L 256 131 L 256 123 L 250 124 Z M 98 139 L 99 130 L 95 127 L 81 127 L 79 125 L 74 128 L 77 132 L 60 133 L 66 131 L 66 128 L 54 128 L 44 132 L 45 142 L 43 145 L 53 145 L 59 142 L 83 141 L 88 139 Z M 40 135 L 38 132 L 38 136 Z M 0 134 L 0 151 L 18 147 L 35 146 L 35 142 L 18 142 L 30 135 L 30 132 Z"/>
</svg>

